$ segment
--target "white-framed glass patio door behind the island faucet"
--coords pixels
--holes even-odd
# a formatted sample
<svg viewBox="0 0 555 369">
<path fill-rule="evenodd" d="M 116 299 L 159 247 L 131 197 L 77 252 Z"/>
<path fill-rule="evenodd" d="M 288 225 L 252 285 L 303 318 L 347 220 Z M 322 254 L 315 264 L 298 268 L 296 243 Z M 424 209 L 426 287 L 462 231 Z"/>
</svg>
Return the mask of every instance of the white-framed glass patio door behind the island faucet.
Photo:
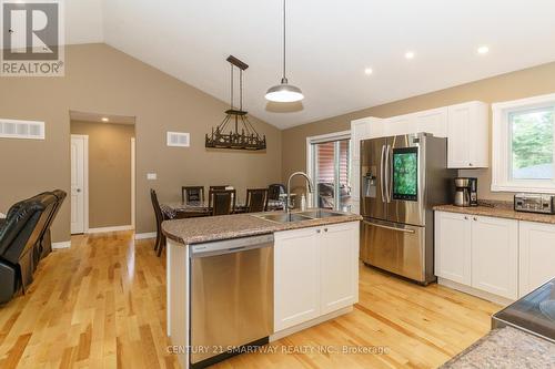
<svg viewBox="0 0 555 369">
<path fill-rule="evenodd" d="M 351 211 L 351 133 L 309 137 L 306 144 L 307 174 L 315 187 L 310 205 Z"/>
</svg>

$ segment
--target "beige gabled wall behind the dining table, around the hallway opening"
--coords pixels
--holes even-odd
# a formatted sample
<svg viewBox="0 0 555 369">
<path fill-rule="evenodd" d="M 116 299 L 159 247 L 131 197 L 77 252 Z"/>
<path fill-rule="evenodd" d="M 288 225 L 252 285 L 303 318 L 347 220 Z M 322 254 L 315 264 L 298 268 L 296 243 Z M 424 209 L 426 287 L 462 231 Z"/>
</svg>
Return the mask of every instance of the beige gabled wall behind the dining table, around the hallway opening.
<svg viewBox="0 0 555 369">
<path fill-rule="evenodd" d="M 222 60 L 222 68 L 224 68 Z M 228 83 L 228 81 L 222 81 Z M 0 139 L 0 212 L 49 188 L 70 186 L 69 111 L 135 116 L 137 229 L 152 232 L 149 188 L 162 202 L 181 199 L 186 184 L 230 183 L 241 196 L 281 178 L 281 132 L 254 117 L 265 153 L 214 152 L 204 134 L 228 104 L 105 44 L 65 48 L 64 78 L 0 78 L 0 117 L 44 121 L 46 141 Z M 167 131 L 191 133 L 191 147 L 165 146 Z M 158 181 L 147 181 L 147 173 Z M 69 201 L 53 225 L 53 239 L 70 235 Z"/>
</svg>

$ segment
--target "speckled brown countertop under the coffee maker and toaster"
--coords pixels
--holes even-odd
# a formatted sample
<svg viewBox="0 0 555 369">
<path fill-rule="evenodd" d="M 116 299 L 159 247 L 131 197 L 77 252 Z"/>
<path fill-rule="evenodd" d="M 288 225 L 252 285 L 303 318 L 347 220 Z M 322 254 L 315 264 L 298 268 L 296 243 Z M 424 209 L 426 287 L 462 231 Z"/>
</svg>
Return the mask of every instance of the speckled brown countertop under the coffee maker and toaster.
<svg viewBox="0 0 555 369">
<path fill-rule="evenodd" d="M 434 211 L 555 224 L 555 215 L 515 212 L 511 202 L 481 201 L 478 205 L 465 207 L 437 205 L 434 206 Z"/>
</svg>

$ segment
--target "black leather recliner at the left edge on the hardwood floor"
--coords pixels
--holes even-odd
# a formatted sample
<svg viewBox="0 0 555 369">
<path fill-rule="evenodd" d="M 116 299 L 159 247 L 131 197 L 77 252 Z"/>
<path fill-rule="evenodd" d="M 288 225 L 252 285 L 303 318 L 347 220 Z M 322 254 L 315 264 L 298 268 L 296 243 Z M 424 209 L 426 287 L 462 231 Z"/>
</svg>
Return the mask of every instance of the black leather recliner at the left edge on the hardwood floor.
<svg viewBox="0 0 555 369">
<path fill-rule="evenodd" d="M 40 260 L 37 248 L 53 221 L 58 203 L 53 193 L 24 199 L 14 204 L 0 224 L 0 304 L 32 283 Z"/>
</svg>

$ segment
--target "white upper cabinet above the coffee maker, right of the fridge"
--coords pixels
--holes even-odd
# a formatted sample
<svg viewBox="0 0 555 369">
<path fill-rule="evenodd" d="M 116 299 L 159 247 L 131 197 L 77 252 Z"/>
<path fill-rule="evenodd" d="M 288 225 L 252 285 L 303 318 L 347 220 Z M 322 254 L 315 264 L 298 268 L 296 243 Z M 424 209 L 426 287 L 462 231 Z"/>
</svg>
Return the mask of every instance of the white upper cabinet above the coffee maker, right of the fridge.
<svg viewBox="0 0 555 369">
<path fill-rule="evenodd" d="M 447 107 L 447 166 L 487 167 L 490 120 L 487 104 L 473 101 Z"/>
</svg>

